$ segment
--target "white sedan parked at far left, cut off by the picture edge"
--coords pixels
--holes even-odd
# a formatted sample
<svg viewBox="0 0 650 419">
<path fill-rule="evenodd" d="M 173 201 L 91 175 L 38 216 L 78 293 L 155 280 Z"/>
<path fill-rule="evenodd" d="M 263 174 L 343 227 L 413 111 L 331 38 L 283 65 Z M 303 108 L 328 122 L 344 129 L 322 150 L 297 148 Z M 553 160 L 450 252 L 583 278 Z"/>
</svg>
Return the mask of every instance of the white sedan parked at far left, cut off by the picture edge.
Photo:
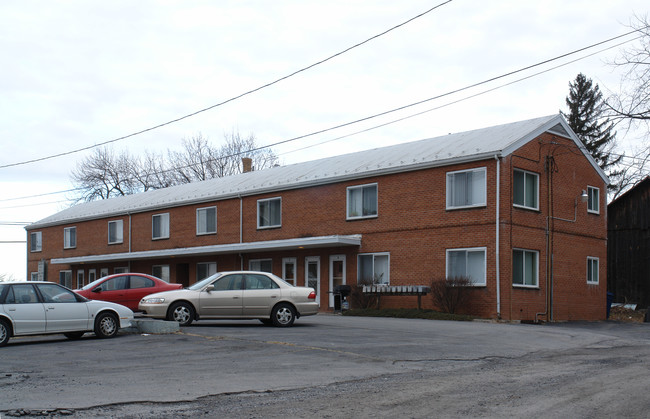
<svg viewBox="0 0 650 419">
<path fill-rule="evenodd" d="M 0 283 L 0 346 L 12 336 L 62 333 L 79 339 L 95 332 L 110 338 L 132 320 L 133 312 L 122 305 L 88 300 L 53 282 Z"/>
</svg>

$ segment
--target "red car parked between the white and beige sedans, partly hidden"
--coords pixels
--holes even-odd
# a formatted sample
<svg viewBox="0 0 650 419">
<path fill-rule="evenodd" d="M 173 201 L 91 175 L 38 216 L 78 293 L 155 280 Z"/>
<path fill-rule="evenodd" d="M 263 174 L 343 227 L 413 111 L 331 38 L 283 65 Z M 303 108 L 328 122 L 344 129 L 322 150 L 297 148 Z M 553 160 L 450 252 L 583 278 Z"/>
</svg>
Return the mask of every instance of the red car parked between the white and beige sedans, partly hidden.
<svg viewBox="0 0 650 419">
<path fill-rule="evenodd" d="M 91 300 L 110 301 L 137 311 L 143 297 L 181 288 L 181 284 L 170 284 L 155 276 L 129 272 L 99 278 L 75 292 Z"/>
</svg>

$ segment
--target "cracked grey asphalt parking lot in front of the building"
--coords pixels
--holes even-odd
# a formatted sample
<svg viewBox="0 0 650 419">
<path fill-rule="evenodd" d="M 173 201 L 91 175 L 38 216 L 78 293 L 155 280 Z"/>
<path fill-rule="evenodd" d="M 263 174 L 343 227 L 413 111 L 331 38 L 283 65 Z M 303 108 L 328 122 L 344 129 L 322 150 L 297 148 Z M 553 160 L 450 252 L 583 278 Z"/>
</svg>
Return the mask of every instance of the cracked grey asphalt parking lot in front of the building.
<svg viewBox="0 0 650 419">
<path fill-rule="evenodd" d="M 12 339 L 0 417 L 648 417 L 650 324 L 337 315 Z M 21 410 L 22 409 L 22 410 Z"/>
</svg>

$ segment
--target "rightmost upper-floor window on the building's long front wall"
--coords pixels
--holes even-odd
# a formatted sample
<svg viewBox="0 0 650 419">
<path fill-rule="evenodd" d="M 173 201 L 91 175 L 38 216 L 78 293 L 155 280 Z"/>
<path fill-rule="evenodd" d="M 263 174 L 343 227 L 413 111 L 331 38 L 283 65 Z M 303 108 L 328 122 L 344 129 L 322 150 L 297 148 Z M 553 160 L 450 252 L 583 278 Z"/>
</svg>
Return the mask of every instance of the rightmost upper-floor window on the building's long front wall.
<svg viewBox="0 0 650 419">
<path fill-rule="evenodd" d="M 447 209 L 486 205 L 486 168 L 447 173 Z"/>
</svg>

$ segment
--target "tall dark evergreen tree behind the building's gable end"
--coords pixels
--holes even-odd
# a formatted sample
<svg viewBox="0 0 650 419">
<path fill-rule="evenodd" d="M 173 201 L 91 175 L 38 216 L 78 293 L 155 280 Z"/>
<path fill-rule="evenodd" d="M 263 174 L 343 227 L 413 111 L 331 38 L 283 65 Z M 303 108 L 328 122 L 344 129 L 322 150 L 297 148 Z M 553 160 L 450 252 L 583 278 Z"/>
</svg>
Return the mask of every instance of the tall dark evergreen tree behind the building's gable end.
<svg viewBox="0 0 650 419">
<path fill-rule="evenodd" d="M 609 176 L 611 182 L 609 188 L 616 190 L 617 178 L 622 174 L 620 170 L 616 170 L 616 167 L 623 156 L 612 153 L 616 132 L 614 132 L 614 124 L 604 116 L 605 102 L 598 84 L 593 84 L 584 74 L 578 74 L 575 81 L 569 83 L 566 104 L 569 113 L 562 111 L 560 113 L 582 141 L 585 149 Z"/>
</svg>

